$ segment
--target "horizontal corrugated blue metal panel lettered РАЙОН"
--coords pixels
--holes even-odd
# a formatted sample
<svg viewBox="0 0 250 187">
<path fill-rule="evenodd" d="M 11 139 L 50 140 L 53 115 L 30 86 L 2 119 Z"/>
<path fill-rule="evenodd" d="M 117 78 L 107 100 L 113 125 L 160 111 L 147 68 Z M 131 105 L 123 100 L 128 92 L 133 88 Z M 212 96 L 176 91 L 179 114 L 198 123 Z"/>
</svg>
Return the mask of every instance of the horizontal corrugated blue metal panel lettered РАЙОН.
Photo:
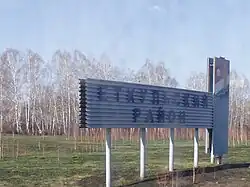
<svg viewBox="0 0 250 187">
<path fill-rule="evenodd" d="M 86 79 L 90 128 L 211 128 L 212 93 Z"/>
</svg>

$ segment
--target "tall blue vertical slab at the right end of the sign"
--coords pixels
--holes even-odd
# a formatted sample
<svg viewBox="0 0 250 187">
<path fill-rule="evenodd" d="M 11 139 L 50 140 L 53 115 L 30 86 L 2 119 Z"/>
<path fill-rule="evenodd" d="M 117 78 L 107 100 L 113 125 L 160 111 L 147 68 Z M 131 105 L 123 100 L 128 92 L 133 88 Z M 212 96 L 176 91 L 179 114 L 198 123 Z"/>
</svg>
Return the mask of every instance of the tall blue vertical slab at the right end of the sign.
<svg viewBox="0 0 250 187">
<path fill-rule="evenodd" d="M 213 91 L 215 99 L 214 154 L 215 156 L 222 156 L 228 152 L 230 61 L 222 57 L 215 57 L 213 63 Z"/>
</svg>

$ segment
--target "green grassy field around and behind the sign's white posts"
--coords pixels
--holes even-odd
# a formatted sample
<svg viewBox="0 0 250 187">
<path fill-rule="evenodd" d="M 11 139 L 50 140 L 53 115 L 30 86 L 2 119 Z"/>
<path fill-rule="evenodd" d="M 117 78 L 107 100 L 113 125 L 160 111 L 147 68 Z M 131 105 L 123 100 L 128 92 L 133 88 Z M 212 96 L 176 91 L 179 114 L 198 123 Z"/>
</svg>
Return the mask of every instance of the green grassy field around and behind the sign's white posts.
<svg viewBox="0 0 250 187">
<path fill-rule="evenodd" d="M 200 146 L 200 165 L 209 156 Z M 5 136 L 2 138 L 0 186 L 103 186 L 105 182 L 104 142 L 66 140 L 65 137 Z M 249 162 L 250 146 L 230 148 L 228 162 Z M 175 166 L 193 164 L 192 141 L 176 141 Z M 148 175 L 168 169 L 168 141 L 148 143 Z M 116 141 L 112 146 L 114 186 L 138 180 L 139 143 Z"/>
</svg>

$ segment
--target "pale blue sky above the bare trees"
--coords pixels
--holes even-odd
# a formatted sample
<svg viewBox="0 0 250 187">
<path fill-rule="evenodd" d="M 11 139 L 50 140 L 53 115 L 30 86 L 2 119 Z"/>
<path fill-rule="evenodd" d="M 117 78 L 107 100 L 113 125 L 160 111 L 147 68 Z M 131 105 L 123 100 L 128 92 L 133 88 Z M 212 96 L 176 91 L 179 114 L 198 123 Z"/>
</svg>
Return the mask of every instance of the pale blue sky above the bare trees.
<svg viewBox="0 0 250 187">
<path fill-rule="evenodd" d="M 250 79 L 249 0 L 0 0 L 0 52 L 108 56 L 139 69 L 164 62 L 180 84 L 223 56 Z"/>
</svg>

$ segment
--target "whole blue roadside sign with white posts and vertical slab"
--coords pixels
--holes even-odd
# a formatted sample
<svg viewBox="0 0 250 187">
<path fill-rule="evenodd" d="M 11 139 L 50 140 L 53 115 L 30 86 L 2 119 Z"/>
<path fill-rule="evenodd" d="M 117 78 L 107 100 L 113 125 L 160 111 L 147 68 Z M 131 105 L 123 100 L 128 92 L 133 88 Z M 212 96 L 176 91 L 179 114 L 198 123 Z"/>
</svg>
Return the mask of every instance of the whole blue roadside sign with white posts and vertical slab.
<svg viewBox="0 0 250 187">
<path fill-rule="evenodd" d="M 174 129 L 207 128 L 214 156 L 228 151 L 229 61 L 209 58 L 208 92 L 97 79 L 80 80 L 80 128 L 106 128 L 106 186 L 111 187 L 111 128 L 140 128 L 140 178 L 145 177 L 146 128 L 170 128 L 169 171 L 174 170 Z M 207 136 L 208 136 L 207 133 Z M 208 138 L 208 137 L 207 137 Z M 208 139 L 207 139 L 208 140 Z M 220 159 L 221 160 L 221 159 Z"/>
</svg>

